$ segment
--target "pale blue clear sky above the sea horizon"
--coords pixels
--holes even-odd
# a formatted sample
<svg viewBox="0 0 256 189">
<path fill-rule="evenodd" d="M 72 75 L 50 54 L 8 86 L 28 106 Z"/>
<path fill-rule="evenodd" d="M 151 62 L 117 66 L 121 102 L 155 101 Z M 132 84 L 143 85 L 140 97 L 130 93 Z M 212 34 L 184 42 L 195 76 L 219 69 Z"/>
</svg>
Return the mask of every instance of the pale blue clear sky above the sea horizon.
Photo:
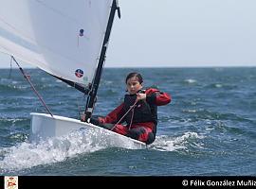
<svg viewBox="0 0 256 189">
<path fill-rule="evenodd" d="M 105 67 L 256 66 L 255 0 L 119 0 L 119 7 Z M 9 67 L 1 54 L 0 67 Z"/>
</svg>

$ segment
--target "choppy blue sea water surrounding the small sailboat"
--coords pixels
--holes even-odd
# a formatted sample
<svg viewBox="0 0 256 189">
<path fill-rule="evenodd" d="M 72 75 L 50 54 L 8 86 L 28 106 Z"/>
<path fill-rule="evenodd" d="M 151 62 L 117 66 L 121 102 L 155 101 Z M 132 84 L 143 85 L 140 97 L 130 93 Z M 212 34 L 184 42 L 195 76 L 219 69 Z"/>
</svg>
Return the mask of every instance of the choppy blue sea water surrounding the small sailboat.
<svg viewBox="0 0 256 189">
<path fill-rule="evenodd" d="M 86 96 L 27 69 L 51 112 L 79 118 Z M 146 149 L 85 144 L 81 134 L 28 143 L 30 112 L 46 112 L 17 69 L 0 70 L 0 175 L 255 176 L 256 68 L 105 68 L 95 114 L 112 111 L 137 71 L 172 95 Z"/>
</svg>

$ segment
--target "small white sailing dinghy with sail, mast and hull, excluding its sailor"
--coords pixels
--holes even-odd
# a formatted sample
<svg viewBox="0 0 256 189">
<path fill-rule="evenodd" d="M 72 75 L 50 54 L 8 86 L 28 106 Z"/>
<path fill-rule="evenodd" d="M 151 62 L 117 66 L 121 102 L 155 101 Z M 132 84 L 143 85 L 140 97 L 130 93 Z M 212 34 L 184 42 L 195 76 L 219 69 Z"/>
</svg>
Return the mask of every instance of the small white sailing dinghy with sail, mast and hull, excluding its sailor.
<svg viewBox="0 0 256 189">
<path fill-rule="evenodd" d="M 120 17 L 118 0 L 1 1 L 0 51 L 11 56 L 23 73 L 19 60 L 88 96 L 84 108 L 86 122 L 82 122 L 52 114 L 37 94 L 47 112 L 30 113 L 30 141 L 85 129 L 105 136 L 105 141 L 117 146 L 146 146 L 90 123 L 116 12 Z"/>
</svg>

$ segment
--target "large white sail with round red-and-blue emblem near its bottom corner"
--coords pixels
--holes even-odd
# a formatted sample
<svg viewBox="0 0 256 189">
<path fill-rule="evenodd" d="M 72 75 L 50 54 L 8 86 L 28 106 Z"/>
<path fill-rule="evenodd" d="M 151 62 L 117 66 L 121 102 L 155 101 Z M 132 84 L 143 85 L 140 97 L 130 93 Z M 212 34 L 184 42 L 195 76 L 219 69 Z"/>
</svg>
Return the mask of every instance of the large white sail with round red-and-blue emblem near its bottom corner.
<svg viewBox="0 0 256 189">
<path fill-rule="evenodd" d="M 1 0 L 0 49 L 47 73 L 92 81 L 113 0 Z"/>
</svg>

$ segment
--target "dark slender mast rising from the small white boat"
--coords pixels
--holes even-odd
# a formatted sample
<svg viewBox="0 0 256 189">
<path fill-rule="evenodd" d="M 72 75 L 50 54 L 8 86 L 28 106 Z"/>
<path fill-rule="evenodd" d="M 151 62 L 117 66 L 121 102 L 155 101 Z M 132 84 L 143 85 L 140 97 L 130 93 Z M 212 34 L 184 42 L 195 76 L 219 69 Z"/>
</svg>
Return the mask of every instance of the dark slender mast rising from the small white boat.
<svg viewBox="0 0 256 189">
<path fill-rule="evenodd" d="M 109 42 L 111 28 L 113 26 L 116 10 L 119 11 L 117 1 L 118 0 L 114 0 L 113 3 L 112 3 L 112 7 L 111 7 L 111 10 L 110 10 L 110 15 L 109 15 L 109 20 L 108 20 L 108 23 L 107 23 L 106 32 L 105 32 L 105 36 L 104 36 L 104 41 L 103 41 L 102 47 L 101 47 L 100 60 L 99 60 L 98 67 L 97 67 L 97 70 L 96 70 L 96 73 L 95 73 L 93 84 L 91 86 L 91 91 L 88 94 L 87 104 L 86 104 L 86 108 L 85 108 L 85 121 L 86 122 L 90 122 L 90 118 L 91 118 L 93 108 L 94 108 L 94 104 L 95 104 L 95 101 L 96 101 L 96 95 L 97 95 L 98 88 L 99 88 L 100 81 L 101 81 L 102 67 L 103 67 L 103 63 L 104 63 L 104 60 L 105 60 L 105 54 L 106 54 L 106 49 L 107 49 L 107 45 L 108 45 L 108 42 Z"/>
</svg>

